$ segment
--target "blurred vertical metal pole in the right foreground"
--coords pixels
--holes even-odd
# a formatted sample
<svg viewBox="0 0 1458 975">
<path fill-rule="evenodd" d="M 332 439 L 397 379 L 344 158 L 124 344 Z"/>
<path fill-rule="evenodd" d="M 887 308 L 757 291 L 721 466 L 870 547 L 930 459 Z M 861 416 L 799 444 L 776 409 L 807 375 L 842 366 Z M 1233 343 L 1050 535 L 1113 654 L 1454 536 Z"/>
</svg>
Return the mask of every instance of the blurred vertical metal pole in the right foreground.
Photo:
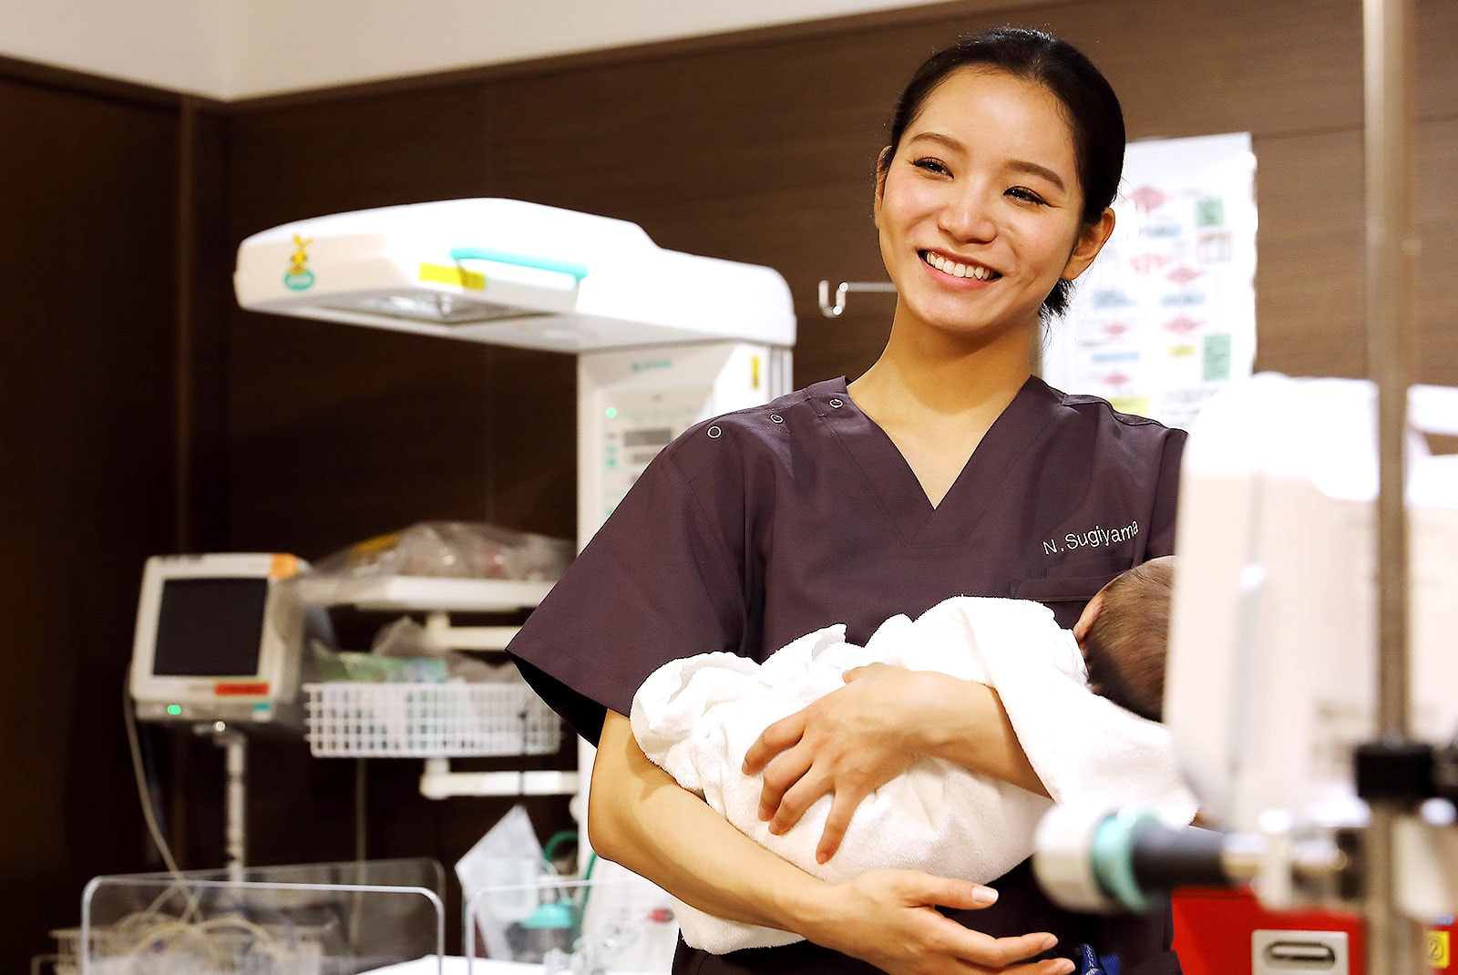
<svg viewBox="0 0 1458 975">
<path fill-rule="evenodd" d="M 1408 739 L 1408 557 L 1406 456 L 1411 385 L 1411 0 L 1363 0 L 1368 372 L 1378 396 L 1376 619 L 1378 735 Z M 1400 799 L 1371 802 L 1366 837 L 1366 972 L 1419 971 L 1423 928 L 1398 908 L 1394 838 L 1411 812 Z"/>
</svg>

